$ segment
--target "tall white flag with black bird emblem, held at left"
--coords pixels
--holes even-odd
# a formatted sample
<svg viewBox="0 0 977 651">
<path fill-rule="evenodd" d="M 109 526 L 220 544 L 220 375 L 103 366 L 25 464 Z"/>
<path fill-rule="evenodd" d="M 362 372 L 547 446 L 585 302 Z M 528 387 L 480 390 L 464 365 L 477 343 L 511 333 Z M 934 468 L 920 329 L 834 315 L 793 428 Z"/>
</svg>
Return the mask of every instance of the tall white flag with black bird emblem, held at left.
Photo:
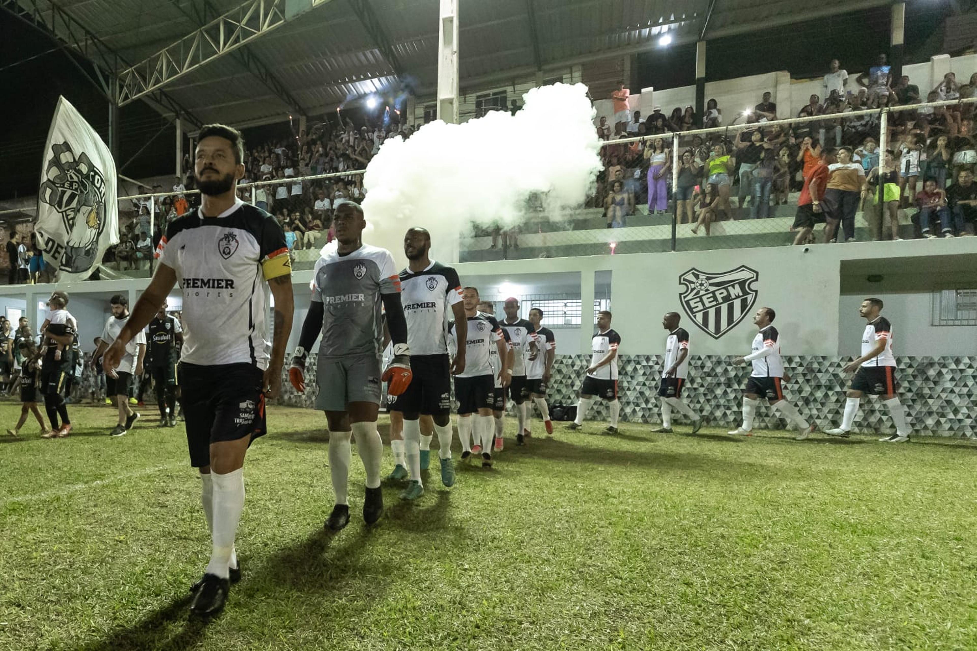
<svg viewBox="0 0 977 651">
<path fill-rule="evenodd" d="M 58 280 L 84 280 L 118 244 L 115 161 L 74 106 L 58 100 L 37 193 L 38 246 Z"/>
</svg>

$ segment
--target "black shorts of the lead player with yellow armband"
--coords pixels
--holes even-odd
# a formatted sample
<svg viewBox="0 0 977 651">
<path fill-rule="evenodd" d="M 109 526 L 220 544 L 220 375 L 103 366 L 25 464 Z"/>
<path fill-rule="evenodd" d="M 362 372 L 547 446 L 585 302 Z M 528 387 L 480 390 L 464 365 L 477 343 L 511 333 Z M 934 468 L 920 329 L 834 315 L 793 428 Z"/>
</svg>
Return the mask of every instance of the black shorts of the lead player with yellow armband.
<svg viewBox="0 0 977 651">
<path fill-rule="evenodd" d="M 264 373 L 252 364 L 199 366 L 180 362 L 187 418 L 187 444 L 193 468 L 210 465 L 210 444 L 264 434 Z"/>
</svg>

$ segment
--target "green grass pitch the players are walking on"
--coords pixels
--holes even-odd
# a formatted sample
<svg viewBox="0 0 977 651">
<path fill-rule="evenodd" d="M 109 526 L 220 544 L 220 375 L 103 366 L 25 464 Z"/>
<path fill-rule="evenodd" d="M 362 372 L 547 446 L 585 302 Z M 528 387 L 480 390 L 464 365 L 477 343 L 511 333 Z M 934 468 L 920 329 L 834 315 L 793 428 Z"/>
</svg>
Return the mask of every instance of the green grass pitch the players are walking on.
<svg viewBox="0 0 977 651">
<path fill-rule="evenodd" d="M 0 405 L 4 428 L 19 411 Z M 199 622 L 199 484 L 153 412 L 117 439 L 110 408 L 79 406 L 69 438 L 0 437 L 0 649 L 977 648 L 967 442 L 536 422 L 450 491 L 434 453 L 427 494 L 386 486 L 371 529 L 354 454 L 330 537 L 324 419 L 272 408 L 245 468 L 244 580 Z"/>
</svg>

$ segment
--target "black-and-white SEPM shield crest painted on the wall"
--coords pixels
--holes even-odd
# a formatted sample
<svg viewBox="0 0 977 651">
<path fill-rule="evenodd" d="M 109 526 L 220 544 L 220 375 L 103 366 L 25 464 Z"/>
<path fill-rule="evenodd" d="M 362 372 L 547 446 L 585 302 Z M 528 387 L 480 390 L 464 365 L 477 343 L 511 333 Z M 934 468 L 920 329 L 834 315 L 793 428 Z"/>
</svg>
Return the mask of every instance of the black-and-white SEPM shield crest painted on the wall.
<svg viewBox="0 0 977 651">
<path fill-rule="evenodd" d="M 679 301 L 702 332 L 719 339 L 743 321 L 756 303 L 760 274 L 746 265 L 712 273 L 693 267 L 678 277 Z"/>
</svg>

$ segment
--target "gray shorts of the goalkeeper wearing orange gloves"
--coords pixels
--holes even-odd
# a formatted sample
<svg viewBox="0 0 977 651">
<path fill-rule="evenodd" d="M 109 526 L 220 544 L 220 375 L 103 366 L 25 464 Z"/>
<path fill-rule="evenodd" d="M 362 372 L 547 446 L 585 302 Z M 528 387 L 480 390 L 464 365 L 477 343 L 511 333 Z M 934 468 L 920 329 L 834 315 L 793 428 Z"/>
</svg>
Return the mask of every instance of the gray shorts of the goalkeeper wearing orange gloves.
<svg viewBox="0 0 977 651">
<path fill-rule="evenodd" d="M 316 368 L 316 409 L 344 412 L 351 402 L 380 404 L 380 355 L 323 357 Z"/>
</svg>

